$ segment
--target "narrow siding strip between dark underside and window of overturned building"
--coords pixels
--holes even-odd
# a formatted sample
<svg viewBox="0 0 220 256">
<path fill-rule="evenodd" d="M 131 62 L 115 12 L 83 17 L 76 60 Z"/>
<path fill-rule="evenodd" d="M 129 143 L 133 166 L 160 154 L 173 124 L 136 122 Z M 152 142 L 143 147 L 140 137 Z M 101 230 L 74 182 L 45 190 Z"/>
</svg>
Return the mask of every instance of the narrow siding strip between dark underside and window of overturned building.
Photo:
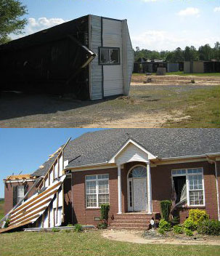
<svg viewBox="0 0 220 256">
<path fill-rule="evenodd" d="M 102 99 L 102 66 L 99 65 L 99 47 L 102 45 L 101 17 L 91 15 L 91 51 L 97 57 L 91 62 L 91 100 Z"/>
</svg>

